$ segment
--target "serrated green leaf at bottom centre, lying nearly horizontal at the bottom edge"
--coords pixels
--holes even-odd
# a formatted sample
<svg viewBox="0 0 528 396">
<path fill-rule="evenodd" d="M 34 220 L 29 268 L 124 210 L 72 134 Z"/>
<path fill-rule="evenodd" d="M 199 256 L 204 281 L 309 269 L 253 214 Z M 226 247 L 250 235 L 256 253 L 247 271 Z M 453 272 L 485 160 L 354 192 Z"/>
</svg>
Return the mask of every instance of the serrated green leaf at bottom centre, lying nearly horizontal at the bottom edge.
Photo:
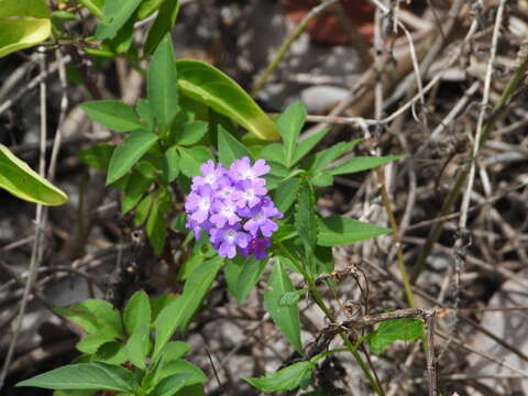
<svg viewBox="0 0 528 396">
<path fill-rule="evenodd" d="M 298 362 L 276 373 L 267 373 L 258 378 L 244 377 L 244 380 L 263 392 L 287 392 L 298 388 L 307 377 L 310 378 L 312 370 L 314 365 L 310 362 Z"/>
</svg>

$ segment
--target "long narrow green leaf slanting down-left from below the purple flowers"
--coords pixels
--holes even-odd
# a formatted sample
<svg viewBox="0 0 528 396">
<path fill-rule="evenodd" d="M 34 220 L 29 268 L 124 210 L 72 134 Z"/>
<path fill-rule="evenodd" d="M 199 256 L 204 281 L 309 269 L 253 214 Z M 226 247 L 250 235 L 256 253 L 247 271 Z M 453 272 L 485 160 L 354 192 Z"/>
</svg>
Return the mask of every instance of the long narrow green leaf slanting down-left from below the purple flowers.
<svg viewBox="0 0 528 396">
<path fill-rule="evenodd" d="M 160 354 L 176 329 L 187 327 L 209 292 L 221 264 L 222 258 L 218 256 L 204 262 L 185 283 L 184 293 L 160 312 L 155 321 L 154 358 Z"/>
</svg>

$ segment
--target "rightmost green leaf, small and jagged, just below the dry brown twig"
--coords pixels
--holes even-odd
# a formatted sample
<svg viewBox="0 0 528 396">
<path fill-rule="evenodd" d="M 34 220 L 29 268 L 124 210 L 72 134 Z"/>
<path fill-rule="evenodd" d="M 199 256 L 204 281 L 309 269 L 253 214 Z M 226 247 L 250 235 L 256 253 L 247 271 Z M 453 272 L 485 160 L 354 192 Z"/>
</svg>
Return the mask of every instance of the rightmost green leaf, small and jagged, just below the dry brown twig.
<svg viewBox="0 0 528 396">
<path fill-rule="evenodd" d="M 369 344 L 374 354 L 380 354 L 394 341 L 411 341 L 424 333 L 424 322 L 419 319 L 391 319 L 369 334 Z"/>
</svg>

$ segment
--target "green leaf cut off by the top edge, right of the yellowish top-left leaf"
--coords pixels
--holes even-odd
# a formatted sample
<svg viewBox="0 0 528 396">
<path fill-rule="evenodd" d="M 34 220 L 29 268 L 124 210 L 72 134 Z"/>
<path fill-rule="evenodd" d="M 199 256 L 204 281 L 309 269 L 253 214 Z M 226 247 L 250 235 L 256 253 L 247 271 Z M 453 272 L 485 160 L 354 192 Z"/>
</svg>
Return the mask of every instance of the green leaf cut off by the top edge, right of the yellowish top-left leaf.
<svg viewBox="0 0 528 396">
<path fill-rule="evenodd" d="M 129 21 L 142 0 L 106 0 L 102 13 L 105 21 L 96 30 L 97 40 L 112 38 Z"/>
</svg>

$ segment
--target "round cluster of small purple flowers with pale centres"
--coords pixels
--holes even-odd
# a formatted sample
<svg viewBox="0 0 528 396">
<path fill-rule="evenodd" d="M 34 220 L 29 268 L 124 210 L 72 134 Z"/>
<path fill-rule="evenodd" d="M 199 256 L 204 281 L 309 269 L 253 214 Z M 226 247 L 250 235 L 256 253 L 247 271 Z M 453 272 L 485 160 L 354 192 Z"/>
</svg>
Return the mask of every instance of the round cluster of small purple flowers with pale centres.
<svg viewBox="0 0 528 396">
<path fill-rule="evenodd" d="M 277 224 L 272 218 L 283 215 L 266 195 L 270 172 L 264 160 L 252 166 L 250 158 L 234 161 L 229 169 L 212 160 L 200 166 L 202 176 L 193 177 L 190 194 L 185 202 L 188 229 L 200 238 L 209 232 L 209 240 L 218 254 L 232 258 L 237 250 L 245 257 L 253 254 L 264 258 L 271 246 L 272 233 Z"/>
</svg>

